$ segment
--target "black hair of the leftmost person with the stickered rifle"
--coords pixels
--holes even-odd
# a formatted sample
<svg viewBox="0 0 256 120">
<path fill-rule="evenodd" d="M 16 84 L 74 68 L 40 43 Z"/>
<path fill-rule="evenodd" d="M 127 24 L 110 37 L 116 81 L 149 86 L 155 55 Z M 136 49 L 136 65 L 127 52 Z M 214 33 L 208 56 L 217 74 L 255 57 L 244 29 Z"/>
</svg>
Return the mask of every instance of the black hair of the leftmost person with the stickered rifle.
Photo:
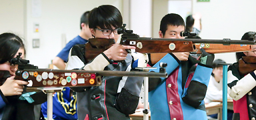
<svg viewBox="0 0 256 120">
<path fill-rule="evenodd" d="M 0 64 L 10 61 L 15 57 L 17 51 L 23 48 L 24 53 L 25 45 L 20 37 L 13 33 L 3 33 L 0 35 Z M 24 55 L 24 56 L 25 56 Z"/>
</svg>

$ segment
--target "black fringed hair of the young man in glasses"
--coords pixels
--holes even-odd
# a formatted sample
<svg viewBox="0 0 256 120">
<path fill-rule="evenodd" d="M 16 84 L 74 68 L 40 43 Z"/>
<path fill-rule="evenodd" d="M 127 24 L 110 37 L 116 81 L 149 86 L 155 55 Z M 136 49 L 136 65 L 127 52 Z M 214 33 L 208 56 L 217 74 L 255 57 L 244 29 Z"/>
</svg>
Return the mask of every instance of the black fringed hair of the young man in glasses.
<svg viewBox="0 0 256 120">
<path fill-rule="evenodd" d="M 112 29 L 122 27 L 123 17 L 117 7 L 101 5 L 95 7 L 89 13 L 89 28 Z"/>
</svg>

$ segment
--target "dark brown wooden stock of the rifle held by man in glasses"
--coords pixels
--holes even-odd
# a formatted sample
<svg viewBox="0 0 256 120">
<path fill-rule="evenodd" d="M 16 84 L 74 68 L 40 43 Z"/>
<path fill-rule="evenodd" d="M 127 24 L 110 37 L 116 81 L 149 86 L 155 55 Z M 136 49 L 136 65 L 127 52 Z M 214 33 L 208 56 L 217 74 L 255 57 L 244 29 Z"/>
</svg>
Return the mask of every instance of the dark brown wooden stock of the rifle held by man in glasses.
<svg viewBox="0 0 256 120">
<path fill-rule="evenodd" d="M 115 43 L 114 39 L 92 38 L 85 44 L 85 61 L 89 62 Z M 121 39 L 121 45 L 135 46 L 139 53 L 173 53 L 196 51 L 192 41 L 151 40 L 147 37 L 139 39 Z M 133 50 L 131 50 L 133 51 Z"/>
</svg>

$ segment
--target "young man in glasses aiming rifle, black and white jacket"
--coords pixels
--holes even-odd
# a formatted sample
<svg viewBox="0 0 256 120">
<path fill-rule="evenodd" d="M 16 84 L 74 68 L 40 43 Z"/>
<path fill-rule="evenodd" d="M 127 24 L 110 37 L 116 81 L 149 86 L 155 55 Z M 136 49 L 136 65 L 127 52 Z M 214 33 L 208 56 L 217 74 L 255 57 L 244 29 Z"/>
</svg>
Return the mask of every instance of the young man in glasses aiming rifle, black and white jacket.
<svg viewBox="0 0 256 120">
<path fill-rule="evenodd" d="M 117 42 L 117 29 L 122 25 L 121 13 L 112 5 L 101 5 L 89 13 L 89 28 L 95 38 L 115 39 Z M 135 47 L 119 43 L 113 44 L 93 60 L 86 62 L 85 54 L 90 53 L 85 51 L 85 45 L 75 45 L 71 49 L 66 69 L 136 71 L 135 67 L 147 65 L 147 55 L 128 54 L 125 49 Z M 139 64 L 135 65 L 135 61 Z M 139 102 L 142 83 L 143 77 L 103 76 L 100 86 L 72 88 L 77 91 L 78 119 L 130 120 L 129 114 L 135 113 Z"/>
</svg>

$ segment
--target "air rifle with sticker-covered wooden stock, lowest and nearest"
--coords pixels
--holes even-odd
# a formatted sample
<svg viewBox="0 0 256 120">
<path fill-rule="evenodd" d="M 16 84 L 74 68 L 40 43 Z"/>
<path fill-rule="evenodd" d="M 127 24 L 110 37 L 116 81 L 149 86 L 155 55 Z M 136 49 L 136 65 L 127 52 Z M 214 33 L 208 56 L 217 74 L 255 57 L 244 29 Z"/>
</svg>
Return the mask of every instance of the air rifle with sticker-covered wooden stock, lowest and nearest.
<svg viewBox="0 0 256 120">
<path fill-rule="evenodd" d="M 11 65 L 19 65 L 15 79 L 29 81 L 27 87 L 89 87 L 101 85 L 103 76 L 132 76 L 132 77 L 167 77 L 165 69 L 159 73 L 144 71 L 85 71 L 38 69 L 29 64 L 28 60 L 17 57 L 11 59 Z M 0 71 L 0 85 L 10 77 L 9 71 Z"/>
</svg>

